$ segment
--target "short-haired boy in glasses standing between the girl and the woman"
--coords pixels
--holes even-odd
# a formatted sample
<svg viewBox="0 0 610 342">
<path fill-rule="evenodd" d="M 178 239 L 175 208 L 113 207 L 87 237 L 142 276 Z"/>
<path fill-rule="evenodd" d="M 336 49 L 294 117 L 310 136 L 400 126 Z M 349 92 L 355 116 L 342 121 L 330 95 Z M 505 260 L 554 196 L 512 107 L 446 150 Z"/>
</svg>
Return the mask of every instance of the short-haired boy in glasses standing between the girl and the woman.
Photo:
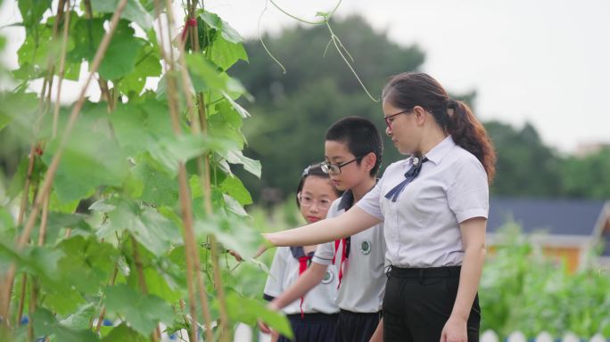
<svg viewBox="0 0 610 342">
<path fill-rule="evenodd" d="M 340 216 L 375 187 L 375 175 L 382 160 L 383 143 L 375 125 L 365 118 L 342 118 L 326 132 L 322 169 L 334 186 L 345 191 L 326 217 Z M 269 307 L 281 310 L 307 296 L 324 280 L 328 265 L 336 266 L 341 309 L 334 341 L 368 342 L 379 326 L 381 334 L 385 243 L 383 224 L 342 240 L 318 245 L 308 270 L 290 288 L 275 297 Z M 327 280 L 326 280 L 327 281 Z M 269 332 L 264 324 L 261 330 Z M 376 334 L 375 334 L 376 335 Z"/>
</svg>

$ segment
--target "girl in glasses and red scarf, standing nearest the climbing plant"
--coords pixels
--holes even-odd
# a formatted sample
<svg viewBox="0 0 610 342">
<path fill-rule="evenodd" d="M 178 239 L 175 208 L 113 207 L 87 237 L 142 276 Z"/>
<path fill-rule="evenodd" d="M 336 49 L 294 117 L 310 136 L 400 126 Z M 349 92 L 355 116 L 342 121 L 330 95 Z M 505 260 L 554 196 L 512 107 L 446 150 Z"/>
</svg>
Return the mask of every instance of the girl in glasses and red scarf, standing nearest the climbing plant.
<svg viewBox="0 0 610 342">
<path fill-rule="evenodd" d="M 326 218 L 326 213 L 341 195 L 319 164 L 303 171 L 297 188 L 297 206 L 303 218 L 315 223 Z M 273 300 L 289 288 L 304 273 L 311 263 L 316 245 L 277 248 L 269 270 L 263 297 Z M 299 342 L 333 341 L 339 307 L 335 304 L 338 280 L 334 268 L 326 270 L 325 277 L 317 286 L 300 300 L 284 307 L 294 332 L 294 340 Z M 290 341 L 284 336 L 272 333 L 272 340 Z"/>
</svg>

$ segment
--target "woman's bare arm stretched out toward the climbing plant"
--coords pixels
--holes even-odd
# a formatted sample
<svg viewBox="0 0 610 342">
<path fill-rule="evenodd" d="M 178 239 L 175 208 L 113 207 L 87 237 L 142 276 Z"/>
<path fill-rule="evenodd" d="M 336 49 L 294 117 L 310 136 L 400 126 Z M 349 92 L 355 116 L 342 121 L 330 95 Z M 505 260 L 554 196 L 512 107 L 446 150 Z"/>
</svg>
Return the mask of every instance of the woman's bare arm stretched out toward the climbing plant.
<svg viewBox="0 0 610 342">
<path fill-rule="evenodd" d="M 309 246 L 339 240 L 379 224 L 381 220 L 354 206 L 340 216 L 283 232 L 263 234 L 274 246 Z"/>
</svg>

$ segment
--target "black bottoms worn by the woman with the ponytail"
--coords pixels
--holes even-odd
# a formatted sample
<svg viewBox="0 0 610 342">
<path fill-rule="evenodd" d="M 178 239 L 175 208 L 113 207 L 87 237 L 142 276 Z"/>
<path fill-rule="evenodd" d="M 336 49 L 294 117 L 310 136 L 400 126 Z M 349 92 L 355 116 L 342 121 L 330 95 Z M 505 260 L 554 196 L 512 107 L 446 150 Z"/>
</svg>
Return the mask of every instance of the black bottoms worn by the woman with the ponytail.
<svg viewBox="0 0 610 342">
<path fill-rule="evenodd" d="M 399 268 L 388 273 L 383 298 L 383 341 L 441 340 L 458 295 L 460 266 Z M 468 342 L 479 341 L 478 295 L 466 323 Z"/>
</svg>

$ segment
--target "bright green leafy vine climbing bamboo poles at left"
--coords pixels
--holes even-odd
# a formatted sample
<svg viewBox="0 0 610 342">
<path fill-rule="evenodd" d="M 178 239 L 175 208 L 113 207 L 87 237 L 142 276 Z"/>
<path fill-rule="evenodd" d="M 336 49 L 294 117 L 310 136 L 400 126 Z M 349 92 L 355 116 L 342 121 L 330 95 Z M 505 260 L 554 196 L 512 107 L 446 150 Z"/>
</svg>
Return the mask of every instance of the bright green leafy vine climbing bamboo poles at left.
<svg viewBox="0 0 610 342">
<path fill-rule="evenodd" d="M 251 100 L 251 95 L 230 75 L 236 61 L 248 61 L 235 29 L 189 2 L 193 19 L 179 23 L 185 32 L 168 42 L 157 25 L 158 11 L 165 17 L 167 8 L 128 0 L 97 69 L 101 99 L 76 109 L 79 117 L 71 130 L 65 127 L 71 125 L 75 105 L 59 108 L 54 116 L 49 89 L 92 68 L 120 3 L 18 2 L 26 39 L 18 52 L 19 69 L 10 75 L 0 70 L 0 77 L 12 77 L 17 84 L 0 94 L 0 129 L 32 148 L 24 151 L 7 191 L 0 194 L 0 281 L 9 299 L 2 305 L 10 308 L 0 312 L 0 339 L 158 340 L 159 333 L 190 329 L 194 322 L 186 308 L 191 305 L 201 327 L 206 310 L 217 327 L 255 324 L 262 313 L 290 335 L 283 315 L 269 312 L 261 299 L 244 297 L 231 284 L 229 265 L 214 262 L 226 248 L 251 256 L 261 242 L 243 210 L 251 195 L 233 173 L 237 164 L 253 176 L 261 172 L 260 162 L 243 155 L 241 130 L 250 114 L 236 101 Z M 196 37 L 188 32 L 193 21 Z M 161 48 L 161 38 L 169 47 Z M 164 53 L 173 56 L 175 69 L 163 67 Z M 180 53 L 185 63 L 179 62 Z M 32 94 L 29 84 L 40 78 L 45 90 Z M 158 85 L 145 87 L 154 79 Z M 177 89 L 177 126 L 169 115 L 172 86 Z M 192 112 L 198 114 L 195 119 Z M 177 129 L 184 133 L 175 134 Z M 181 165 L 185 189 L 178 182 Z M 53 183 L 42 215 L 30 242 L 20 246 L 13 241 L 26 231 L 48 177 Z M 211 210 L 205 208 L 207 199 Z M 189 297 L 189 281 L 195 277 L 185 271 L 187 259 L 194 257 L 185 244 L 185 206 L 194 217 L 194 252 L 201 260 L 196 273 L 202 274 L 205 293 L 199 298 L 207 298 L 210 307 Z M 210 250 L 210 242 L 217 240 L 219 248 Z M 220 289 L 226 297 L 217 297 Z M 222 322 L 223 310 L 228 322 Z M 159 330 L 160 322 L 165 331 Z M 200 338 L 210 336 L 198 331 Z M 212 334 L 229 338 L 216 328 Z"/>
</svg>

